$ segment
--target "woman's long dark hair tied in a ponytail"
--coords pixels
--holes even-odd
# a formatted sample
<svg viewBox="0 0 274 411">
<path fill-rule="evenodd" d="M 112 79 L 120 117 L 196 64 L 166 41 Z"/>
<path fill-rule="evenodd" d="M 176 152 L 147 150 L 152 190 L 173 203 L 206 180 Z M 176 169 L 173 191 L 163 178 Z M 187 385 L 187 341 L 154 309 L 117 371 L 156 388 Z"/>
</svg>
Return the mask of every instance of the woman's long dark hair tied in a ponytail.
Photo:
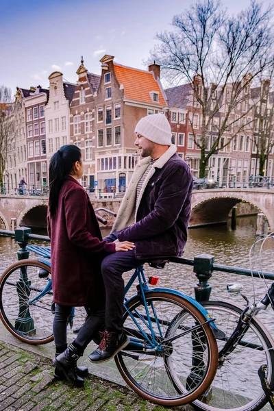
<svg viewBox="0 0 274 411">
<path fill-rule="evenodd" d="M 64 145 L 51 157 L 49 163 L 49 212 L 54 216 L 58 206 L 60 189 L 73 170 L 75 162 L 81 161 L 82 153 L 75 145 Z"/>
</svg>

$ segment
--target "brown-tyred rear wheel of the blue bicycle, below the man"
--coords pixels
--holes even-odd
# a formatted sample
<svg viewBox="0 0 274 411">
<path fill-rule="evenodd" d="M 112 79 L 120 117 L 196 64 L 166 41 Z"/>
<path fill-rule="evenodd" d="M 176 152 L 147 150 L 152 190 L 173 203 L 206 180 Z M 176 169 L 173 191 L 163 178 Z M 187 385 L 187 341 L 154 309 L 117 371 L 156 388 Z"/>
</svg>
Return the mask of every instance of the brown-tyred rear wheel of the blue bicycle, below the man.
<svg viewBox="0 0 274 411">
<path fill-rule="evenodd" d="M 116 365 L 125 382 L 149 401 L 162 406 L 193 401 L 216 373 L 218 351 L 210 326 L 199 327 L 206 322 L 201 312 L 171 292 L 147 292 L 146 304 L 149 316 L 140 297 L 127 303 L 124 327 L 132 343 L 115 357 Z M 147 349 L 153 334 L 155 348 Z M 137 348 L 134 339 L 139 341 Z"/>
</svg>

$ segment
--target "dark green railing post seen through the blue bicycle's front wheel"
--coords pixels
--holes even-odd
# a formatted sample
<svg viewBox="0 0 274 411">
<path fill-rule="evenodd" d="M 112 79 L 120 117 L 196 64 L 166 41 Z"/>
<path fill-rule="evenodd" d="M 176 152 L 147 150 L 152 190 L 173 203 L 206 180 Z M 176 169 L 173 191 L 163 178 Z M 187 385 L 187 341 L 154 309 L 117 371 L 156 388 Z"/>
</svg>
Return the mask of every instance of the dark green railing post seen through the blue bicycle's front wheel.
<svg viewBox="0 0 274 411">
<path fill-rule="evenodd" d="M 18 260 L 25 260 L 29 258 L 29 251 L 27 251 L 28 236 L 32 232 L 30 228 L 20 227 L 15 230 L 15 240 L 20 245 L 17 251 Z M 29 313 L 28 298 L 30 295 L 31 282 L 27 277 L 27 267 L 21 267 L 20 277 L 16 282 L 16 290 L 19 299 L 19 312 L 15 321 L 15 328 L 23 334 L 30 334 L 35 332 L 34 320 Z"/>
</svg>

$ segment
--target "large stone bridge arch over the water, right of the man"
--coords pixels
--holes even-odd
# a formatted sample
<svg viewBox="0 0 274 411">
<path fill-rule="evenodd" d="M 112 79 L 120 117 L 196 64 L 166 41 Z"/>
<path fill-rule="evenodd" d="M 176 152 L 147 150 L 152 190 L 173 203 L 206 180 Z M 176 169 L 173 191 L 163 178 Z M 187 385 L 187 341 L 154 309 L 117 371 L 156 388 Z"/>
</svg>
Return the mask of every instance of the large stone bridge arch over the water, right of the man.
<svg viewBox="0 0 274 411">
<path fill-rule="evenodd" d="M 250 198 L 249 198 L 250 197 Z M 256 210 L 262 212 L 274 229 L 273 216 L 264 206 L 262 196 L 250 196 L 247 192 L 207 192 L 205 195 L 193 195 L 190 225 L 210 225 L 214 223 L 225 223 L 229 218 L 229 212 L 237 203 L 245 201 L 250 203 Z"/>
</svg>

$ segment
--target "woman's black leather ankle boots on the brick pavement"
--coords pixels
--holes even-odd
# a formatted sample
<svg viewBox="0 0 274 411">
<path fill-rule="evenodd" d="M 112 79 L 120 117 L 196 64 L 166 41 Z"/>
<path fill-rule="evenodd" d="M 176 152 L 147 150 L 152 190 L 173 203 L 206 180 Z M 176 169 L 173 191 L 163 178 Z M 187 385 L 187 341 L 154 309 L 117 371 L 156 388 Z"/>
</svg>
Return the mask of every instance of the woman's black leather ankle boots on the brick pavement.
<svg viewBox="0 0 274 411">
<path fill-rule="evenodd" d="M 77 387 L 84 386 L 84 379 L 79 377 L 77 368 L 77 360 L 82 355 L 82 351 L 71 344 L 63 353 L 53 358 L 53 364 L 58 369 L 58 374 L 64 375 L 71 384 Z M 86 367 L 81 368 L 85 369 Z"/>
</svg>

